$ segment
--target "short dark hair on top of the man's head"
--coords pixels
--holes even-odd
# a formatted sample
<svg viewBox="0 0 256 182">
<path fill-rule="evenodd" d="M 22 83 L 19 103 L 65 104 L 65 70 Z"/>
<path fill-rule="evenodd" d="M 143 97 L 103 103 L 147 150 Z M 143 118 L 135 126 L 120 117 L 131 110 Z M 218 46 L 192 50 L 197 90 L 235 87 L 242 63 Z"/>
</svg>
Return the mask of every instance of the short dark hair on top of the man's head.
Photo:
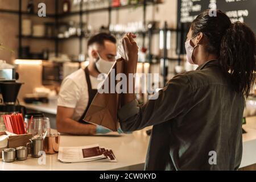
<svg viewBox="0 0 256 182">
<path fill-rule="evenodd" d="M 114 38 L 113 35 L 111 34 L 106 34 L 106 33 L 100 33 L 92 36 L 87 43 L 87 47 L 92 46 L 93 44 L 98 44 L 100 46 L 104 46 L 104 41 L 109 40 L 112 43 L 117 43 L 117 39 Z"/>
</svg>

